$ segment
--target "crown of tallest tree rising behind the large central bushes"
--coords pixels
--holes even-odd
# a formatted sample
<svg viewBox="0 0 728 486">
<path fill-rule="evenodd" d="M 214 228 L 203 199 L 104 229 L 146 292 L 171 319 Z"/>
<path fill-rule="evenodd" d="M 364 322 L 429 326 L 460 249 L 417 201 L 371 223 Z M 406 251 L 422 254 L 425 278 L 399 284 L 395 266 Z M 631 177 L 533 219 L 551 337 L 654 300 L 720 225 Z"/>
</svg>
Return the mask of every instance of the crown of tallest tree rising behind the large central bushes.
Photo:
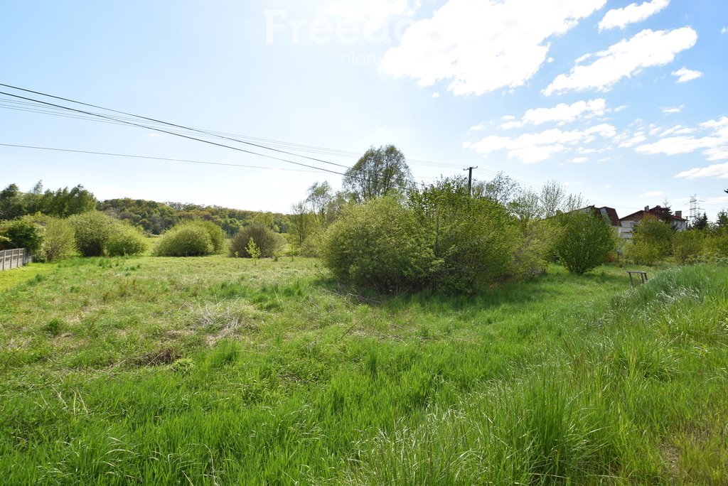
<svg viewBox="0 0 728 486">
<path fill-rule="evenodd" d="M 395 146 L 370 148 L 344 175 L 344 190 L 356 202 L 404 191 L 412 185 L 405 156 Z"/>
</svg>

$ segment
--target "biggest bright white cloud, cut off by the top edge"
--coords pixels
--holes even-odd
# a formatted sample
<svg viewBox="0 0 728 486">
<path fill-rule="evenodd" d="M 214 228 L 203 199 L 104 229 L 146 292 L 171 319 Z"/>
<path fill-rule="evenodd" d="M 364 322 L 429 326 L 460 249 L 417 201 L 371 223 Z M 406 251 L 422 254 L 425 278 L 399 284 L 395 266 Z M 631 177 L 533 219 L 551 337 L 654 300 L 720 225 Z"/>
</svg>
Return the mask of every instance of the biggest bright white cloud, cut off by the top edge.
<svg viewBox="0 0 728 486">
<path fill-rule="evenodd" d="M 455 95 L 522 86 L 547 62 L 548 39 L 606 0 L 449 0 L 405 31 L 381 68 L 422 86 L 449 81 Z"/>
</svg>

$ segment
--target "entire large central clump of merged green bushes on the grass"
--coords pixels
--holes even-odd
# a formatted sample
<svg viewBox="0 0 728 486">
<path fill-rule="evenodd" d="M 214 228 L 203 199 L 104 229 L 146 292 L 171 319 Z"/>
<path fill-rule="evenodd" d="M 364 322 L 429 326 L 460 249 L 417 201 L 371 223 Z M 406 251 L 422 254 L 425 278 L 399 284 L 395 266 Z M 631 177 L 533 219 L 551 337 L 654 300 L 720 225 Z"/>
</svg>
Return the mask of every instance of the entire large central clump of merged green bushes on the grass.
<svg viewBox="0 0 728 486">
<path fill-rule="evenodd" d="M 525 258 L 526 248 L 534 255 Z M 459 180 L 347 207 L 320 239 L 336 278 L 379 290 L 470 293 L 534 273 L 545 255 L 505 207 Z"/>
</svg>

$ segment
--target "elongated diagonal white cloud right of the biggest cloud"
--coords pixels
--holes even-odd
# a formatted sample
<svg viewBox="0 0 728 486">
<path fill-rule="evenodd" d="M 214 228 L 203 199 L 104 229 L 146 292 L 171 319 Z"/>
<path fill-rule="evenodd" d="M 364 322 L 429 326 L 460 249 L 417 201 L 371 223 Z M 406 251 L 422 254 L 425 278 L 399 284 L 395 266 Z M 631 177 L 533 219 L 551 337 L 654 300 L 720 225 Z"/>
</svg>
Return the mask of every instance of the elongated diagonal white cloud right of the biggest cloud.
<svg viewBox="0 0 728 486">
<path fill-rule="evenodd" d="M 644 68 L 666 65 L 675 60 L 678 52 L 695 45 L 697 33 L 689 27 L 672 31 L 646 29 L 605 51 L 588 65 L 575 65 L 568 74 L 559 74 L 542 92 L 545 95 L 571 89 L 608 91 L 623 78 L 634 76 Z"/>
</svg>

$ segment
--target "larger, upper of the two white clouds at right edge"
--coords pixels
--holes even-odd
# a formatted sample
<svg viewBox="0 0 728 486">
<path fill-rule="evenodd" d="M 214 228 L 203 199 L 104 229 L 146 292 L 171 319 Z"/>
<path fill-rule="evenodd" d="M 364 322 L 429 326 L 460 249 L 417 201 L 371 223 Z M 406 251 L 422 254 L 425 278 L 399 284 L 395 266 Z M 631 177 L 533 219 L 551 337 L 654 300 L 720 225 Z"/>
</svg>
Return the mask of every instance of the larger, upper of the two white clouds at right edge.
<svg viewBox="0 0 728 486">
<path fill-rule="evenodd" d="M 680 155 L 702 150 L 708 161 L 728 160 L 728 117 L 723 116 L 718 120 L 701 123 L 699 127 L 704 132 L 702 137 L 695 135 L 665 137 L 657 142 L 638 146 L 636 151 L 641 154 Z M 684 130 L 684 127 L 680 130 Z M 681 174 L 687 172 L 689 171 Z"/>
</svg>

